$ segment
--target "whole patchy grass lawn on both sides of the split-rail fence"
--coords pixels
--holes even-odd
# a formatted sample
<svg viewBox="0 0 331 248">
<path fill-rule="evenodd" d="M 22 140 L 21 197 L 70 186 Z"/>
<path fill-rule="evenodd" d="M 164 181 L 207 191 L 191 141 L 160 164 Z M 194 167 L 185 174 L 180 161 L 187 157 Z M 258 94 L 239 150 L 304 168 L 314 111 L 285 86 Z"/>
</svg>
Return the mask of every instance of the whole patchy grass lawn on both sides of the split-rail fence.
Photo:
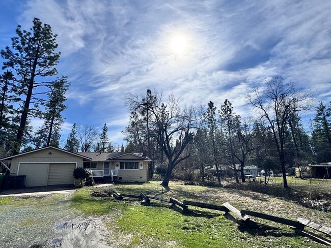
<svg viewBox="0 0 331 248">
<path fill-rule="evenodd" d="M 166 191 L 159 183 L 152 181 L 141 184 L 118 184 L 115 185 L 115 190 L 126 194 L 137 195 L 145 192 L 159 197 L 162 195 L 163 198 L 175 197 L 180 201 L 195 200 L 219 205 L 230 202 L 239 209 L 259 211 L 292 220 L 301 217 L 331 227 L 330 213 L 305 208 L 282 197 L 231 188 L 189 186 L 181 182 L 171 182 L 171 190 Z M 56 203 L 56 211 L 63 206 L 76 216 L 85 216 L 86 219 L 102 218 L 109 231 L 106 237 L 108 243 L 118 247 L 324 247 L 311 239 L 296 235 L 287 226 L 262 219 L 251 218 L 282 230 L 241 229 L 237 224 L 224 218 L 223 212 L 216 210 L 207 211 L 190 207 L 196 211 L 195 214 L 182 214 L 170 209 L 170 204 L 155 200 L 145 206 L 135 200 L 117 201 L 111 197 L 92 197 L 91 193 L 96 190 L 99 191 L 100 188 L 79 189 L 66 197 L 53 195 L 32 200 L 0 198 L 0 218 L 6 218 L 6 215 L 1 216 L 3 211 L 10 213 L 15 209 L 29 207 L 35 210 L 40 208 L 41 204 L 53 206 L 52 204 Z M 47 208 L 47 211 L 51 209 Z M 38 215 L 38 211 L 34 211 L 34 215 Z M 23 232 L 23 235 L 24 230 L 33 225 L 34 218 L 24 215 L 21 216 L 21 227 L 15 227 L 17 231 Z"/>
</svg>

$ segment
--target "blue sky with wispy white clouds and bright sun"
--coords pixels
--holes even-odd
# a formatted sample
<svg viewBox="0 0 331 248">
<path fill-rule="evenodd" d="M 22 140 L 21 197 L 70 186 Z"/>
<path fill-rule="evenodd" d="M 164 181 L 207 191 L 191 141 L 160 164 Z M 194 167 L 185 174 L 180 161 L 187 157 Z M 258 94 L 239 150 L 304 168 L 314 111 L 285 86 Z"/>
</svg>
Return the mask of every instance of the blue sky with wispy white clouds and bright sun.
<svg viewBox="0 0 331 248">
<path fill-rule="evenodd" d="M 74 122 L 106 123 L 125 143 L 125 97 L 148 88 L 186 106 L 228 99 L 248 116 L 251 88 L 282 76 L 315 91 L 316 105 L 331 101 L 331 1 L 2 0 L 0 48 L 34 17 L 58 35 L 57 68 L 71 82 L 64 140 Z"/>
</svg>

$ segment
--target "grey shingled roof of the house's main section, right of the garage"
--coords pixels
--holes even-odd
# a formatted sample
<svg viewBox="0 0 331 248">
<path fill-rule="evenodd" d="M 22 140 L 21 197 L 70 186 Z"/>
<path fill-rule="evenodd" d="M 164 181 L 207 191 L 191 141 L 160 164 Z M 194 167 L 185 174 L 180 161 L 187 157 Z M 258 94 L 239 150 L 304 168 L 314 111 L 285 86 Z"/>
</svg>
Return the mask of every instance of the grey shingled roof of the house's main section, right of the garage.
<svg viewBox="0 0 331 248">
<path fill-rule="evenodd" d="M 147 157 L 141 156 L 142 153 L 124 153 L 124 152 L 78 152 L 78 154 L 81 154 L 82 156 L 87 156 L 92 159 L 92 161 L 145 161 L 149 160 Z M 132 154 L 136 157 L 136 159 L 121 159 L 122 156 L 125 154 Z"/>
</svg>

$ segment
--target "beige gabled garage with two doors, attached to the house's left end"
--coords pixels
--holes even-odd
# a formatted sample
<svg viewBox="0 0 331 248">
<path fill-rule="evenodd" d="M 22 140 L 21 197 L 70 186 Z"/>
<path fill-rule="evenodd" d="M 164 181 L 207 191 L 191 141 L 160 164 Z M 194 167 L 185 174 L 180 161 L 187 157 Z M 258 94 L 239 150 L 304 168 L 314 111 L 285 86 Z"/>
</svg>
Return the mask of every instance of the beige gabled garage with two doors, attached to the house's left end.
<svg viewBox="0 0 331 248">
<path fill-rule="evenodd" d="M 74 169 L 82 167 L 83 161 L 90 160 L 91 158 L 77 153 L 47 146 L 3 158 L 0 162 L 10 163 L 10 175 L 26 175 L 26 187 L 37 187 L 73 185 Z"/>
</svg>

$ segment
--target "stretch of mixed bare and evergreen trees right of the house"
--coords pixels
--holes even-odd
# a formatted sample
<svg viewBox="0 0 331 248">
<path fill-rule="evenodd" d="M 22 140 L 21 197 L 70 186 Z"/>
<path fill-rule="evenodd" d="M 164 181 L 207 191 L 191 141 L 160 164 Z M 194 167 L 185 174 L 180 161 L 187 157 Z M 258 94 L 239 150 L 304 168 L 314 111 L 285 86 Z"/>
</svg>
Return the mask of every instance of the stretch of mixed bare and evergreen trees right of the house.
<svg viewBox="0 0 331 248">
<path fill-rule="evenodd" d="M 298 89 L 282 77 L 266 80 L 245 96 L 247 111 L 254 117 L 237 115 L 231 102 L 204 106 L 182 106 L 174 95 L 163 100 L 151 89 L 145 95 L 128 95 L 130 112 L 125 128 L 126 149 L 140 151 L 151 159 L 150 176 L 163 168 L 162 185 L 172 176 L 190 179 L 205 168 L 215 168 L 222 184 L 225 168 L 236 181 L 245 181 L 244 167 L 255 165 L 283 175 L 295 166 L 331 162 L 331 103 L 314 106 L 314 94 Z M 315 107 L 315 117 L 305 123 L 301 113 Z M 306 126 L 309 129 L 305 128 Z M 240 173 L 240 178 L 237 172 Z"/>
</svg>

